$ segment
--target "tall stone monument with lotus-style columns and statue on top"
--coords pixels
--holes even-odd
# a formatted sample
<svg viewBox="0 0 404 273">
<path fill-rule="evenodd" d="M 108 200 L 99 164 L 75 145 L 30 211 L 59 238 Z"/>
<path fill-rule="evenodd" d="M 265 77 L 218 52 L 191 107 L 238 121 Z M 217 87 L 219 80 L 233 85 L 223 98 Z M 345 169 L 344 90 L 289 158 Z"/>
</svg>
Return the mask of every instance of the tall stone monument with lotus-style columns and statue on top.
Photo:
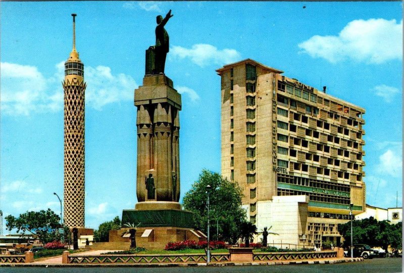
<svg viewBox="0 0 404 273">
<path fill-rule="evenodd" d="M 146 50 L 143 85 L 134 95 L 138 203 L 135 209 L 123 210 L 122 225 L 138 226 L 136 244 L 146 248 L 161 249 L 170 241 L 206 238 L 192 229 L 192 212 L 183 210 L 178 202 L 181 95 L 164 74 L 169 50 L 164 26 L 172 16 L 170 10 L 164 19 L 161 15 L 157 17 L 156 45 Z M 120 236 L 124 236 L 122 232 L 110 233 L 112 241 L 121 240 Z"/>
</svg>

